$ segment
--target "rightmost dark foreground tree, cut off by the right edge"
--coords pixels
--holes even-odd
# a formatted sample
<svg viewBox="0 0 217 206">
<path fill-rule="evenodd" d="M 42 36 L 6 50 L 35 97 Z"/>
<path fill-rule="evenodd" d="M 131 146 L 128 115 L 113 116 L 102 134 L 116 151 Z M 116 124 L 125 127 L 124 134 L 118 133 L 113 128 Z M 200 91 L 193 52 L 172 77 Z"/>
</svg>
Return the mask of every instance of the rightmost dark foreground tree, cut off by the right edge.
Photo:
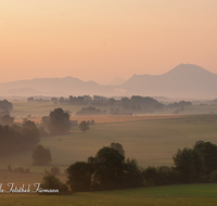
<svg viewBox="0 0 217 206">
<path fill-rule="evenodd" d="M 210 142 L 197 141 L 194 151 L 199 152 L 204 162 L 206 175 L 217 169 L 217 145 Z"/>
</svg>

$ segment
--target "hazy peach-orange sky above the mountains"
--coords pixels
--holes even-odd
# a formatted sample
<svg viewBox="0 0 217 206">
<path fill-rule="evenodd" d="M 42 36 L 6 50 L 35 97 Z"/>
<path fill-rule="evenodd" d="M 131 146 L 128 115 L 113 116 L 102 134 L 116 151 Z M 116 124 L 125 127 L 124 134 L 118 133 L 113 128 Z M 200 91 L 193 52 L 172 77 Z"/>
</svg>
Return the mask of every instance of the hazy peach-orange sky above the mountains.
<svg viewBox="0 0 217 206">
<path fill-rule="evenodd" d="M 0 82 L 217 74 L 217 0 L 0 0 Z"/>
</svg>

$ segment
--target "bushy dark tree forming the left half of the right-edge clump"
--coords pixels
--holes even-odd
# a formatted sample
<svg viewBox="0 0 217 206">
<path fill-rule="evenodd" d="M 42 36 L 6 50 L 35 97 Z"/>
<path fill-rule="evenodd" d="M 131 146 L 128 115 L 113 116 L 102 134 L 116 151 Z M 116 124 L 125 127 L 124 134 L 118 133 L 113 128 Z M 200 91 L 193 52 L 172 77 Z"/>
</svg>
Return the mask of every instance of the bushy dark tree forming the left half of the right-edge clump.
<svg viewBox="0 0 217 206">
<path fill-rule="evenodd" d="M 204 164 L 196 151 L 187 147 L 178 150 L 173 159 L 184 182 L 196 182 L 203 175 Z"/>
</svg>

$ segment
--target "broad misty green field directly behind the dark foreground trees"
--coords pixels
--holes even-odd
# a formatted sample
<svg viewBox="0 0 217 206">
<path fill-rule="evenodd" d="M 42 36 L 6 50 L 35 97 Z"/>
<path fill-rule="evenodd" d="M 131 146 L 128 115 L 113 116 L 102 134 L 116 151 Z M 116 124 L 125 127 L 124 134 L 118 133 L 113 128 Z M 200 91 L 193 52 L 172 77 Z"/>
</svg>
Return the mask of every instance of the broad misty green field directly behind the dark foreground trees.
<svg viewBox="0 0 217 206">
<path fill-rule="evenodd" d="M 44 168 L 59 166 L 63 173 L 71 164 L 86 160 L 112 142 L 122 143 L 126 157 L 138 159 L 142 167 L 171 166 L 177 150 L 192 147 L 197 140 L 217 143 L 217 115 L 97 124 L 86 133 L 75 127 L 67 136 L 41 138 L 40 143 L 52 154 L 50 166 L 31 166 L 31 153 L 25 152 L 0 158 L 0 169 L 7 169 L 10 164 L 12 168 L 22 166 L 34 172 L 43 172 Z"/>
</svg>

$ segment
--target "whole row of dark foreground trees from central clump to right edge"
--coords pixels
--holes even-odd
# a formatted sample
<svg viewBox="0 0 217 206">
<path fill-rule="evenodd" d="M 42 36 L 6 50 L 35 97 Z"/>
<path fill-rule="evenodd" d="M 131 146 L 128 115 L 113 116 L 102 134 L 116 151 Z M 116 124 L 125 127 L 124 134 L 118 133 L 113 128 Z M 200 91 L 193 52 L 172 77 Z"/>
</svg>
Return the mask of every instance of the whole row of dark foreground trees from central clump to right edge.
<svg viewBox="0 0 217 206">
<path fill-rule="evenodd" d="M 112 143 L 99 150 L 87 162 L 67 168 L 73 192 L 114 190 L 173 183 L 217 182 L 217 145 L 199 141 L 193 149 L 178 150 L 174 167 L 142 169 L 136 159 L 125 159 L 122 144 Z"/>
</svg>

